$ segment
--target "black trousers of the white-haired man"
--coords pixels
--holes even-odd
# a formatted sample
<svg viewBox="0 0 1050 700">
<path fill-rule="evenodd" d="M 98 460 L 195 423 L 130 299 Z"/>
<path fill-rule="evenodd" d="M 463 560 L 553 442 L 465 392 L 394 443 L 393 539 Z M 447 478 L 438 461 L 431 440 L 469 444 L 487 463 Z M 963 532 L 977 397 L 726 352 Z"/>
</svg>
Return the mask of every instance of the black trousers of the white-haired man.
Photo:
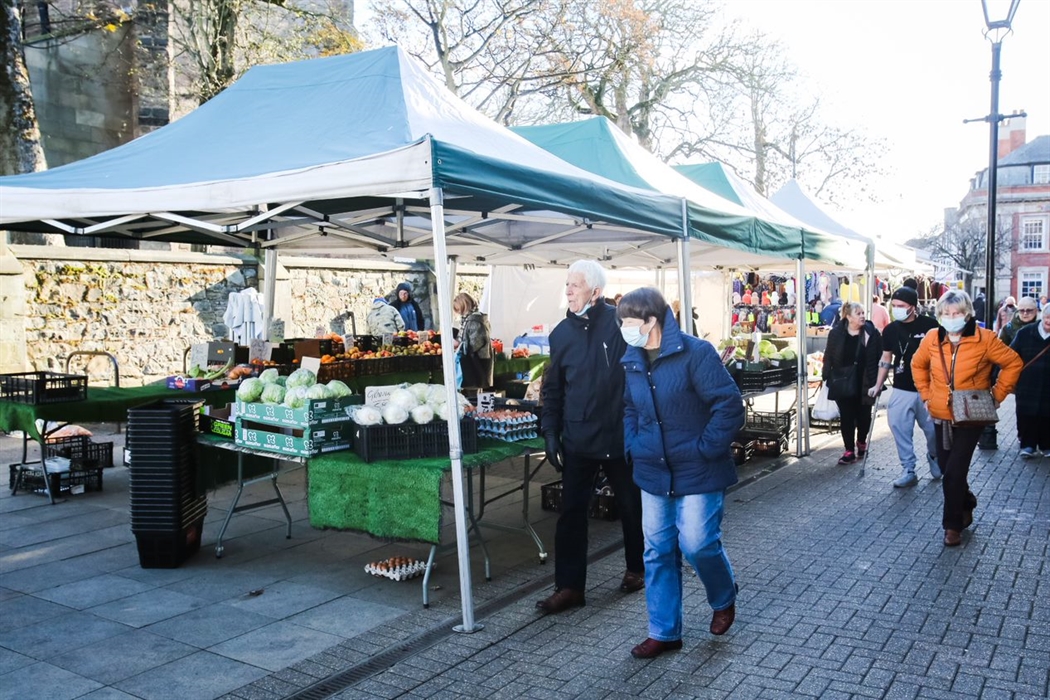
<svg viewBox="0 0 1050 700">
<path fill-rule="evenodd" d="M 631 468 L 623 459 L 591 460 L 565 455 L 562 470 L 562 514 L 554 531 L 554 587 L 584 591 L 587 588 L 587 507 L 594 491 L 594 478 L 602 469 L 609 479 L 624 528 L 627 569 L 645 571 L 642 554 L 642 492 Z"/>
</svg>

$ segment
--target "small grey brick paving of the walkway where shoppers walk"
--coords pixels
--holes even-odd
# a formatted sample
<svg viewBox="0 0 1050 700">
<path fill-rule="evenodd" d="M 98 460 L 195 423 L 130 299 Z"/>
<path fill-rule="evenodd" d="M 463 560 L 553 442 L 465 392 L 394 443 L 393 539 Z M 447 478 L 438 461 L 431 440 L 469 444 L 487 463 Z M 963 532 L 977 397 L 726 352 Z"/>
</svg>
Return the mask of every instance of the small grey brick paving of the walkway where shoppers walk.
<svg viewBox="0 0 1050 700">
<path fill-rule="evenodd" d="M 939 482 L 891 487 L 883 413 L 863 479 L 835 464 L 834 441 L 734 491 L 724 537 L 740 594 L 726 636 L 707 633 L 691 576 L 682 651 L 631 658 L 645 602 L 618 593 L 610 555 L 590 569 L 587 607 L 545 617 L 520 600 L 335 697 L 1047 698 L 1050 458 L 1020 459 L 1012 401 L 1001 415 L 958 549 L 941 543 Z"/>
</svg>

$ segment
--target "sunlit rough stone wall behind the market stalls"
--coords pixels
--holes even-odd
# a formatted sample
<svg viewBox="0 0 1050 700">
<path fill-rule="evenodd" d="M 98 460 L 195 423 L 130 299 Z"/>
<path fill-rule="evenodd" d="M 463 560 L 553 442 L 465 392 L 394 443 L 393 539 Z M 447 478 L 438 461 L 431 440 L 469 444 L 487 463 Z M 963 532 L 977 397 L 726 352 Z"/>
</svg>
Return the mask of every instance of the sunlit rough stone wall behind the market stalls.
<svg viewBox="0 0 1050 700">
<path fill-rule="evenodd" d="M 71 352 L 102 351 L 117 358 L 122 386 L 158 381 L 182 370 L 190 345 L 226 337 L 231 292 L 262 287 L 262 266 L 245 254 L 43 246 L 9 246 L 9 252 L 21 266 L 24 295 L 2 300 L 3 317 L 24 319 L 28 366 L 2 372 L 62 372 Z M 345 333 L 348 311 L 364 333 L 372 300 L 401 281 L 413 284 L 428 327 L 436 325 L 435 277 L 425 264 L 278 259 L 274 316 L 282 337 L 312 337 L 318 327 Z M 486 278 L 485 269 L 461 269 L 457 291 L 480 299 Z M 71 368 L 86 368 L 92 383 L 110 383 L 108 360 L 88 360 L 77 358 Z"/>
</svg>

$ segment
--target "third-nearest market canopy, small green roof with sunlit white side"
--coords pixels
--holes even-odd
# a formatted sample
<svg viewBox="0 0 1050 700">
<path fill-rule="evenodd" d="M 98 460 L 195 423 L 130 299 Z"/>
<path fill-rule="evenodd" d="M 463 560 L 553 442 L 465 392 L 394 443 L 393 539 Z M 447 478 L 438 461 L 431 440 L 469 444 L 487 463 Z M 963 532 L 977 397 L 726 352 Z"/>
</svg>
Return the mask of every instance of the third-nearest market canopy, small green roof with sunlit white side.
<svg viewBox="0 0 1050 700">
<path fill-rule="evenodd" d="M 698 163 L 674 166 L 674 169 L 700 187 L 735 201 L 773 220 L 794 221 L 802 229 L 804 257 L 807 260 L 834 264 L 838 269 L 863 270 L 866 246 L 863 237 L 841 236 L 784 211 L 753 188 L 747 181 L 721 163 Z"/>
</svg>

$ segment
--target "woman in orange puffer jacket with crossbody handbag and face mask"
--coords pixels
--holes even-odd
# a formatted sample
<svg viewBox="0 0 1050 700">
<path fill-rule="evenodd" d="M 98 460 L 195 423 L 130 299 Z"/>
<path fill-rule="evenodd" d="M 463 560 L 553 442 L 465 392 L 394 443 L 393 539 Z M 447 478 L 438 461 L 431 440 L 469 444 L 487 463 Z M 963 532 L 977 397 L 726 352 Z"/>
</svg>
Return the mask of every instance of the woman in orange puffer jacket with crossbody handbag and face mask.
<svg viewBox="0 0 1050 700">
<path fill-rule="evenodd" d="M 978 505 L 967 476 L 984 428 L 951 424 L 949 376 L 954 373 L 952 386 L 957 389 L 990 388 L 998 408 L 1013 391 L 1024 363 L 993 332 L 978 327 L 973 303 L 965 292 L 952 290 L 938 299 L 937 320 L 941 327 L 923 338 L 911 358 L 911 377 L 937 431 L 937 462 L 944 472 L 944 545 L 957 547 L 962 543 L 962 531 L 973 522 Z M 999 378 L 992 385 L 992 367 L 996 365 Z"/>
</svg>

